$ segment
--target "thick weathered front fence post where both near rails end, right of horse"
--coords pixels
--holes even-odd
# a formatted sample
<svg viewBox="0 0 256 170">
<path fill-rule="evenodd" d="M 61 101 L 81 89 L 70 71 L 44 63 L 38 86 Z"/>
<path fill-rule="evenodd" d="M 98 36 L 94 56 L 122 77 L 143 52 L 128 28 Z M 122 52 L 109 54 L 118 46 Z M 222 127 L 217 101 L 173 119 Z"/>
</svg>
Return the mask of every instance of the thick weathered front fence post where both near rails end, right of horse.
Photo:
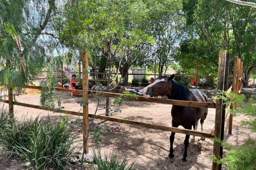
<svg viewBox="0 0 256 170">
<path fill-rule="evenodd" d="M 217 90 L 224 89 L 224 77 L 225 77 L 225 63 L 226 63 L 226 50 L 220 50 L 219 52 L 219 68 L 218 68 L 218 85 Z M 217 98 L 216 100 L 216 111 L 215 111 L 215 129 L 214 129 L 214 136 L 220 139 L 221 134 L 221 127 L 222 127 L 222 112 L 223 112 L 223 99 Z M 220 159 L 220 142 L 214 141 L 213 143 L 213 154 L 217 159 Z M 219 166 L 217 162 L 213 162 L 212 169 L 218 170 Z"/>
</svg>

